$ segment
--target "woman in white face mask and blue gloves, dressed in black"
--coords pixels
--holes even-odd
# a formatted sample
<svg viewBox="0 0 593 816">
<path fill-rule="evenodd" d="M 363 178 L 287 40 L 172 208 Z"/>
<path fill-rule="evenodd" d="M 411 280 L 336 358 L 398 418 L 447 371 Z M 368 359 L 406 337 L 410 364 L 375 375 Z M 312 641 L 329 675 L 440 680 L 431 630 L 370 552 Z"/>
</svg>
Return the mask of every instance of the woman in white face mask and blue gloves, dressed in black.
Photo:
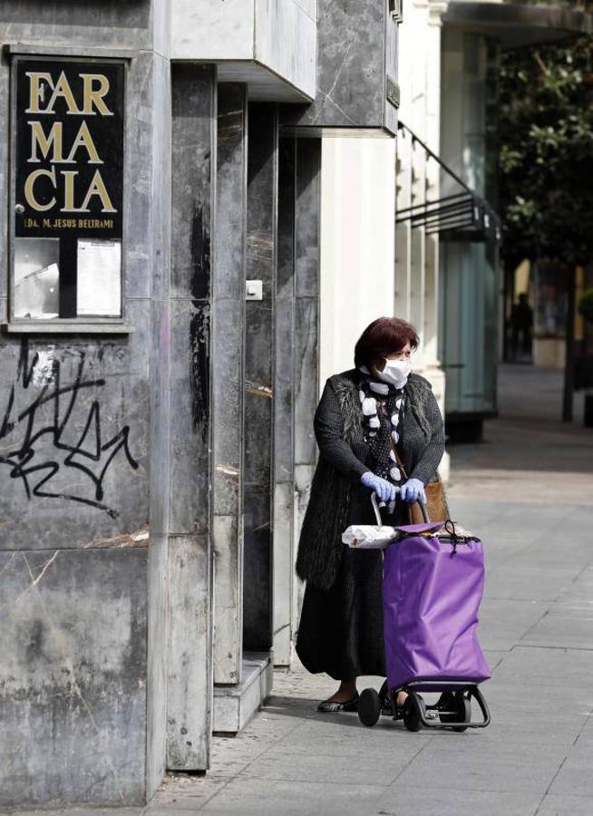
<svg viewBox="0 0 593 816">
<path fill-rule="evenodd" d="M 385 675 L 382 552 L 349 549 L 342 533 L 376 524 L 372 491 L 385 502 L 384 523 L 402 524 L 405 502 L 425 500 L 424 485 L 438 481 L 442 416 L 431 384 L 412 373 L 418 342 L 404 320 L 375 320 L 355 345 L 355 368 L 329 377 L 316 409 L 320 455 L 297 555 L 306 580 L 297 654 L 309 672 L 340 681 L 319 711 L 354 711 L 356 677 Z"/>
</svg>

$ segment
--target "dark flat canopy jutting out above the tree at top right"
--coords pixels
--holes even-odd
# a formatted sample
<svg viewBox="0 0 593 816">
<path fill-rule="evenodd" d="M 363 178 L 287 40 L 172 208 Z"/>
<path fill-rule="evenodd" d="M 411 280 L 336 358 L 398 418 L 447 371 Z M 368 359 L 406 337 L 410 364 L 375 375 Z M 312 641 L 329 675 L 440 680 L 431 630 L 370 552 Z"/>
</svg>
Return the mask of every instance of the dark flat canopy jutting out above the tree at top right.
<svg viewBox="0 0 593 816">
<path fill-rule="evenodd" d="M 442 15 L 447 28 L 496 39 L 504 49 L 558 43 L 593 34 L 593 16 L 562 5 L 450 2 Z"/>
</svg>

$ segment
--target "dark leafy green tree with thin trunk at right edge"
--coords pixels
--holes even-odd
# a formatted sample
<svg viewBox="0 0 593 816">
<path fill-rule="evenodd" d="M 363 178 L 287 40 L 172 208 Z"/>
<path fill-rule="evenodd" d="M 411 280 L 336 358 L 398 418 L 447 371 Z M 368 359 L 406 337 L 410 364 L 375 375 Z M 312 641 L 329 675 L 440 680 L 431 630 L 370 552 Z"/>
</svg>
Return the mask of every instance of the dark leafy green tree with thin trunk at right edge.
<svg viewBox="0 0 593 816">
<path fill-rule="evenodd" d="M 574 269 L 593 258 L 593 42 L 505 53 L 498 121 L 501 257 L 545 258 L 567 281 L 564 420 L 572 415 Z"/>
</svg>

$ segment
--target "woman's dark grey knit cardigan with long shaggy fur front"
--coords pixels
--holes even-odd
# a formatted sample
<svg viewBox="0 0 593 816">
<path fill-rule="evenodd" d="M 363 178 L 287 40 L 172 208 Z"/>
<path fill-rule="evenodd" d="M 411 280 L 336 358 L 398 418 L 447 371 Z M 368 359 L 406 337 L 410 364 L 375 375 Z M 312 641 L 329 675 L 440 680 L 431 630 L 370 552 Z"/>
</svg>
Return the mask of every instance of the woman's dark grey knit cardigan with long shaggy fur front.
<svg viewBox="0 0 593 816">
<path fill-rule="evenodd" d="M 297 575 L 322 589 L 331 588 L 340 567 L 353 485 L 360 482 L 364 472 L 372 470 L 357 381 L 356 369 L 329 377 L 315 414 L 320 454 L 298 542 Z M 437 481 L 444 428 L 432 386 L 419 374 L 411 374 L 405 393 L 402 435 L 406 422 L 409 427 L 415 420 L 422 429 L 421 450 L 415 461 L 407 462 L 407 476 L 424 483 Z M 410 414 L 413 420 L 408 418 Z"/>
</svg>

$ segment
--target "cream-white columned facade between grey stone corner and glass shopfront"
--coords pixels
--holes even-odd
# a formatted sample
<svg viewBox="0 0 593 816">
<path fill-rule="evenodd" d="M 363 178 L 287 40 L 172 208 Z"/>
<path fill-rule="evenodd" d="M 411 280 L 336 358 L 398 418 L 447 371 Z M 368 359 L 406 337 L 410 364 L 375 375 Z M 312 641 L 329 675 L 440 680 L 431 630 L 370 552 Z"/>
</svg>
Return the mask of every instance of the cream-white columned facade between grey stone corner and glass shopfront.
<svg viewBox="0 0 593 816">
<path fill-rule="evenodd" d="M 397 141 L 395 309 L 419 333 L 414 368 L 433 384 L 442 413 L 445 375 L 439 348 L 439 233 L 430 219 L 416 219 L 426 202 L 439 200 L 441 177 L 433 155 L 440 151 L 441 35 L 447 3 L 422 0 L 403 9 Z M 412 217 L 410 217 L 412 216 Z M 448 456 L 441 466 L 448 472 Z"/>
</svg>

